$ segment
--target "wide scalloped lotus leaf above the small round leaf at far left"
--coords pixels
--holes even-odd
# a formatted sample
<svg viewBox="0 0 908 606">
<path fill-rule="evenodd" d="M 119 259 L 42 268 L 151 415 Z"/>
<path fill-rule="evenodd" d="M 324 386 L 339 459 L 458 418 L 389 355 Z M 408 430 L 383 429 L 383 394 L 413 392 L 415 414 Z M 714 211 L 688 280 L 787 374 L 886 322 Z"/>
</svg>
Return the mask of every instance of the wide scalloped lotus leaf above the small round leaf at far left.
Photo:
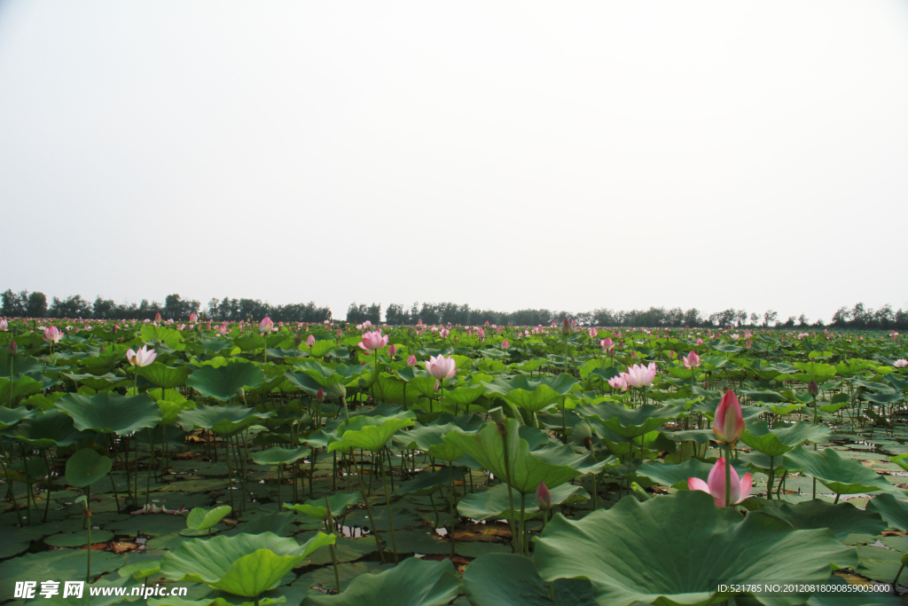
<svg viewBox="0 0 908 606">
<path fill-rule="evenodd" d="M 73 417 L 76 429 L 82 431 L 129 435 L 161 421 L 161 409 L 144 393 L 131 398 L 110 392 L 67 393 L 56 407 Z"/>
</svg>

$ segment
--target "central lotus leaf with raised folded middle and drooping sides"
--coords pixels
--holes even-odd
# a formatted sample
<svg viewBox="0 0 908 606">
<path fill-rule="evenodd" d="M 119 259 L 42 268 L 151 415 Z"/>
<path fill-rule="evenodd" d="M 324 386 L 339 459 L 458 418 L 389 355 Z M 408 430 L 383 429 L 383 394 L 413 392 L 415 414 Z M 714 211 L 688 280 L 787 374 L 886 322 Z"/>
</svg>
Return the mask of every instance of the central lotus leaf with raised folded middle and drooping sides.
<svg viewBox="0 0 908 606">
<path fill-rule="evenodd" d="M 520 438 L 517 420 L 507 419 L 505 426 L 508 432 L 510 484 L 519 492 L 536 492 L 539 482 L 546 482 L 546 486 L 552 489 L 581 475 L 570 465 L 553 465 L 531 454 L 528 442 Z M 496 478 L 508 478 L 505 440 L 498 434 L 496 423 L 490 422 L 477 433 L 450 432 L 445 436 L 445 442 L 466 452 L 485 470 L 494 473 Z"/>
</svg>

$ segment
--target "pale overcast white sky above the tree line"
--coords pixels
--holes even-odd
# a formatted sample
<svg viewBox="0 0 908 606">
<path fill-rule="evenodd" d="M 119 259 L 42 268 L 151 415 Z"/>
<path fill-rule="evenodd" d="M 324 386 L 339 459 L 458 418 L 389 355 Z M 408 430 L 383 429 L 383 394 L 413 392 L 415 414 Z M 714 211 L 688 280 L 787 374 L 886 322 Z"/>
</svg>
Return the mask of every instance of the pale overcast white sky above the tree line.
<svg viewBox="0 0 908 606">
<path fill-rule="evenodd" d="M 908 3 L 0 0 L 0 289 L 908 308 Z"/>
</svg>

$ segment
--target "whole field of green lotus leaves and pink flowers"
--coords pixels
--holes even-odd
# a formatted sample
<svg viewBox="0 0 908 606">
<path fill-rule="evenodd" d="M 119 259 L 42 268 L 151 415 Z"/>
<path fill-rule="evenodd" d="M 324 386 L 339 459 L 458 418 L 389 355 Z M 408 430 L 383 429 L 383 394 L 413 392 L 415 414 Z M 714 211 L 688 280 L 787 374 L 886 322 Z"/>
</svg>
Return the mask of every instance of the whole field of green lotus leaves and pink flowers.
<svg viewBox="0 0 908 606">
<path fill-rule="evenodd" d="M 899 335 L 735 330 L 0 321 L 0 600 L 902 603 Z"/>
</svg>

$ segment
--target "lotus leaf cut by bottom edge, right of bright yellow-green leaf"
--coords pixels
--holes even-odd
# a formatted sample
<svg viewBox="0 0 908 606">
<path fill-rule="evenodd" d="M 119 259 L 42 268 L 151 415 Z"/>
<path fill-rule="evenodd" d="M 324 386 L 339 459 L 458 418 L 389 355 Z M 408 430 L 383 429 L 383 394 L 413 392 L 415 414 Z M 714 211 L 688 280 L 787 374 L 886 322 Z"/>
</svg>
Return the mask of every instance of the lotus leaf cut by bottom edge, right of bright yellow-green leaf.
<svg viewBox="0 0 908 606">
<path fill-rule="evenodd" d="M 360 574 L 340 595 L 308 596 L 304 606 L 443 606 L 458 595 L 450 560 L 408 558 L 379 574 Z"/>
</svg>

